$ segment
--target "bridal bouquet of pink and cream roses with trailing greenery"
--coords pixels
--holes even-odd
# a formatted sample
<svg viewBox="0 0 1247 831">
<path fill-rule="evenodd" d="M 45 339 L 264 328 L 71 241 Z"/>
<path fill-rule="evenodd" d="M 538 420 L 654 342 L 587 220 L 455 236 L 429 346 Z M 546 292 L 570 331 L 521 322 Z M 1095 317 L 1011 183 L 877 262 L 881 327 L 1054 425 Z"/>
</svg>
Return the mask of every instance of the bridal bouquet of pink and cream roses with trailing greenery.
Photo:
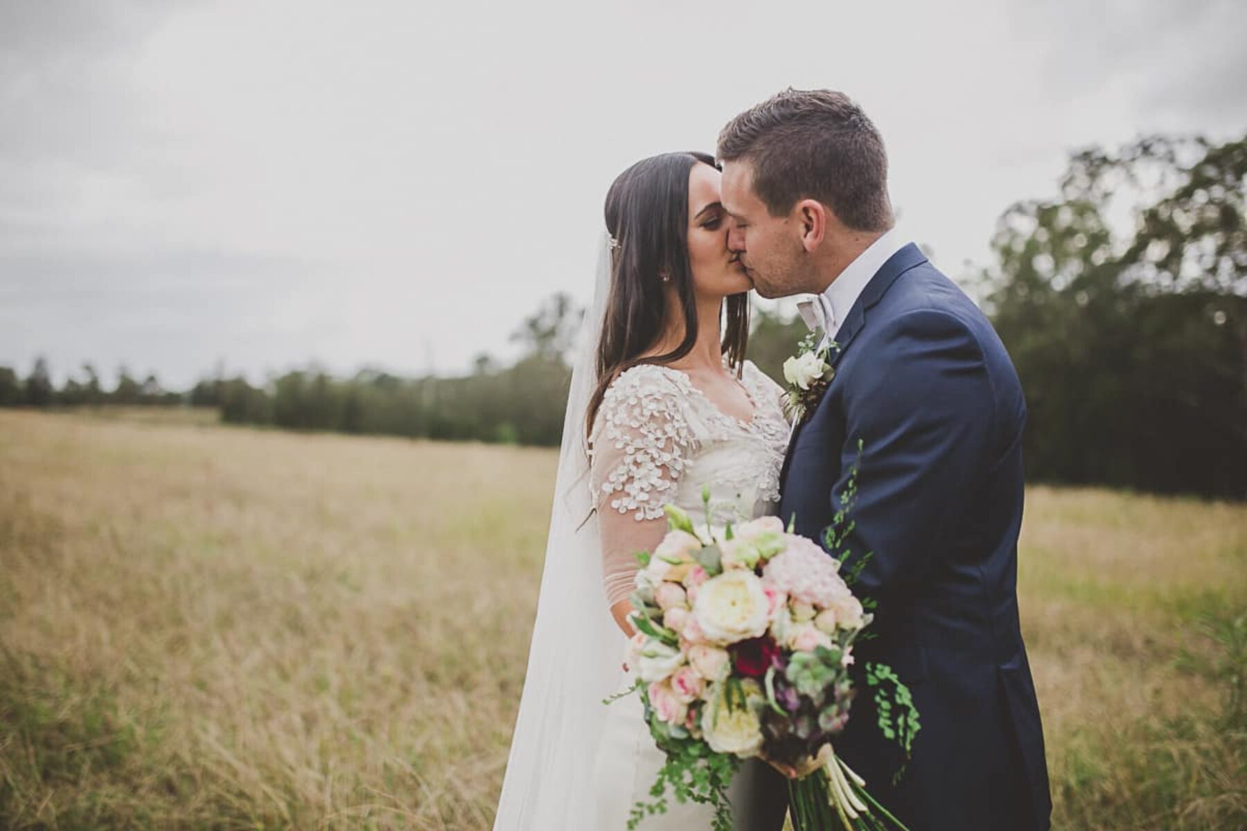
<svg viewBox="0 0 1247 831">
<path fill-rule="evenodd" d="M 630 831 L 666 812 L 668 786 L 681 802 L 713 805 L 715 831 L 731 831 L 727 786 L 752 756 L 789 772 L 797 831 L 903 829 L 833 750 L 858 693 L 853 642 L 872 618 L 849 588 L 855 573 L 777 517 L 712 527 L 703 498 L 705 526 L 668 505 L 670 532 L 637 556 L 626 657 L 637 680 L 621 695 L 640 693 L 667 760 Z M 867 683 L 880 730 L 908 755 L 909 690 L 882 665 L 867 667 Z"/>
</svg>

